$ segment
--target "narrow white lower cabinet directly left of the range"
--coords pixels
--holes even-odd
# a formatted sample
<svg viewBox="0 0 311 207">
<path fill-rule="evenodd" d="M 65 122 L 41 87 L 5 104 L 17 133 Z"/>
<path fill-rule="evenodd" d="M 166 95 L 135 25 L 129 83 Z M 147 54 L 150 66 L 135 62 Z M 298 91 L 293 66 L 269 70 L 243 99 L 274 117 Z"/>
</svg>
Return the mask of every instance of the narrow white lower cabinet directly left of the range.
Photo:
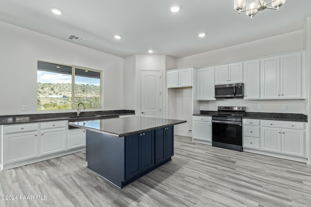
<svg viewBox="0 0 311 207">
<path fill-rule="evenodd" d="M 193 116 L 192 142 L 204 143 L 212 141 L 211 116 Z"/>
</svg>

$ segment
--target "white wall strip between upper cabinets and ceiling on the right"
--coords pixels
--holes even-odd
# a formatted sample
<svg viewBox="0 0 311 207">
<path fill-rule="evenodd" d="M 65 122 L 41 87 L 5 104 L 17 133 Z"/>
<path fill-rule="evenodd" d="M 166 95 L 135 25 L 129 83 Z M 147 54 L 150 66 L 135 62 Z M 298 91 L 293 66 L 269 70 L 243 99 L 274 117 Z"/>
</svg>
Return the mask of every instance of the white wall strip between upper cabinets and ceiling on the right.
<svg viewBox="0 0 311 207">
<path fill-rule="evenodd" d="M 226 64 L 303 49 L 303 30 L 268 37 L 236 46 L 203 52 L 176 60 L 176 67 Z"/>
</svg>

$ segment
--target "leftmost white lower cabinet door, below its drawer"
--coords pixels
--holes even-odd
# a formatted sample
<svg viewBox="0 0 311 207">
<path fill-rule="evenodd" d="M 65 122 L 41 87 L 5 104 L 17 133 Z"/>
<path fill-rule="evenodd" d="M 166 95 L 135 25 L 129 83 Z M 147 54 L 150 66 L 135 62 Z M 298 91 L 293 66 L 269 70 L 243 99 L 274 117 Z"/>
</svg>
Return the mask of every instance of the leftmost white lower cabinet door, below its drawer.
<svg viewBox="0 0 311 207">
<path fill-rule="evenodd" d="M 38 157 L 37 131 L 4 135 L 4 164 Z"/>
</svg>

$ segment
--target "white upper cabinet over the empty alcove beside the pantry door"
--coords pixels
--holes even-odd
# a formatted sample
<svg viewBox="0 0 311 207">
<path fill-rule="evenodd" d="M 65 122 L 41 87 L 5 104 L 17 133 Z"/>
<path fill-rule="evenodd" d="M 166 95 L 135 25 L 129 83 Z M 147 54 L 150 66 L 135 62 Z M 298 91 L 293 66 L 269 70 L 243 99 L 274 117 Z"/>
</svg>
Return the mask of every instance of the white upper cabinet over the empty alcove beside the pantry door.
<svg viewBox="0 0 311 207">
<path fill-rule="evenodd" d="M 168 71 L 166 74 L 168 88 L 192 86 L 192 67 Z"/>
</svg>

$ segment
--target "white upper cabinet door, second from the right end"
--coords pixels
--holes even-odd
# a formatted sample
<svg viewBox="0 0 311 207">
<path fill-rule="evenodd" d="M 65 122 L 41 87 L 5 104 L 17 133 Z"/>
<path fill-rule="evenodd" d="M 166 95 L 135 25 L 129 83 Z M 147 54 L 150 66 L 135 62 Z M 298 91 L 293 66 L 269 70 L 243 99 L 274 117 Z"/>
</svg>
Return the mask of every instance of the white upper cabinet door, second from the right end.
<svg viewBox="0 0 311 207">
<path fill-rule="evenodd" d="M 260 61 L 261 98 L 280 98 L 280 59 L 265 58 Z"/>
</svg>

